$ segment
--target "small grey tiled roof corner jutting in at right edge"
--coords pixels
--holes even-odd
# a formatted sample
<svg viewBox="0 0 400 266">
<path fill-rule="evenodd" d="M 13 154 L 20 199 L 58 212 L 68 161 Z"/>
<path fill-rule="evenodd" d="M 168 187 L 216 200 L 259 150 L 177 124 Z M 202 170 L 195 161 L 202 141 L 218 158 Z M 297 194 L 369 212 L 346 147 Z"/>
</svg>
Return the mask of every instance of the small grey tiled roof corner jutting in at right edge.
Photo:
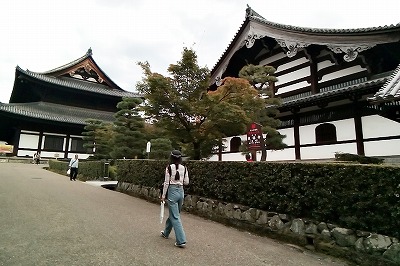
<svg viewBox="0 0 400 266">
<path fill-rule="evenodd" d="M 394 70 L 388 81 L 369 101 L 373 103 L 391 102 L 400 99 L 400 65 Z"/>
</svg>

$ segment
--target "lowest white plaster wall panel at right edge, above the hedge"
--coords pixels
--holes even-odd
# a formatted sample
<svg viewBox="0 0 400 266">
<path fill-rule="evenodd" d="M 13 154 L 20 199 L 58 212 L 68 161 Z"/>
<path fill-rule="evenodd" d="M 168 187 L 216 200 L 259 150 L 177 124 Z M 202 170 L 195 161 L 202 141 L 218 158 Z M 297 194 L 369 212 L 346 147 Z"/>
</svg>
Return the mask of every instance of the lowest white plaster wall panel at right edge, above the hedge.
<svg viewBox="0 0 400 266">
<path fill-rule="evenodd" d="M 364 142 L 365 156 L 400 155 L 400 139 Z"/>
</svg>

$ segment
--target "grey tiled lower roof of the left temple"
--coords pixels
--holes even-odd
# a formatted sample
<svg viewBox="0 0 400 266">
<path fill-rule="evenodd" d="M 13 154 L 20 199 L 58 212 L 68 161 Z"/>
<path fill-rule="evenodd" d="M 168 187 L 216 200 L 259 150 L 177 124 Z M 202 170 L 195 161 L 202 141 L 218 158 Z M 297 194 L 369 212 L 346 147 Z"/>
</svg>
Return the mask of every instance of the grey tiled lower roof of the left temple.
<svg viewBox="0 0 400 266">
<path fill-rule="evenodd" d="M 69 124 L 87 124 L 88 119 L 113 122 L 114 113 L 46 102 L 0 103 L 0 112 Z"/>
</svg>

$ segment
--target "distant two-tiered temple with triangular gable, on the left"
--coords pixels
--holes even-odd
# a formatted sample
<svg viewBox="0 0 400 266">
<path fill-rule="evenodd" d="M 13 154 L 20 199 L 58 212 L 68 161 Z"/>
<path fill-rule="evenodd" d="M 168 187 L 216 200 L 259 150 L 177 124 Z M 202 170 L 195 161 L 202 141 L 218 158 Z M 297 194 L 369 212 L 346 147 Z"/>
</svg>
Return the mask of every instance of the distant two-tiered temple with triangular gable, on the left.
<svg viewBox="0 0 400 266">
<path fill-rule="evenodd" d="M 11 155 L 87 158 L 82 132 L 88 119 L 113 122 L 122 97 L 140 97 L 121 89 L 96 64 L 92 50 L 66 65 L 32 72 L 19 66 L 8 104 L 0 103 L 0 141 Z"/>
</svg>

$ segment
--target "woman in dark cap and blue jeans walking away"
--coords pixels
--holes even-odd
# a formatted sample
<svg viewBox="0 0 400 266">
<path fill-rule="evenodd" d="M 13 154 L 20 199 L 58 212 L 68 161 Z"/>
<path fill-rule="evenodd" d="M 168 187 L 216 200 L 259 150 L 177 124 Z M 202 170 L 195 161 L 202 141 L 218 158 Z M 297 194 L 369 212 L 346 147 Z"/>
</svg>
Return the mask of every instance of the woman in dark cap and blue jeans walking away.
<svg viewBox="0 0 400 266">
<path fill-rule="evenodd" d="M 189 173 L 182 165 L 182 154 L 178 150 L 171 152 L 171 163 L 165 169 L 164 188 L 161 201 L 167 197 L 169 215 L 165 222 L 165 229 L 161 231 L 161 236 L 168 239 L 174 229 L 175 246 L 184 248 L 186 246 L 186 235 L 183 230 L 181 220 L 181 209 L 184 199 L 183 185 L 189 184 Z"/>
</svg>

